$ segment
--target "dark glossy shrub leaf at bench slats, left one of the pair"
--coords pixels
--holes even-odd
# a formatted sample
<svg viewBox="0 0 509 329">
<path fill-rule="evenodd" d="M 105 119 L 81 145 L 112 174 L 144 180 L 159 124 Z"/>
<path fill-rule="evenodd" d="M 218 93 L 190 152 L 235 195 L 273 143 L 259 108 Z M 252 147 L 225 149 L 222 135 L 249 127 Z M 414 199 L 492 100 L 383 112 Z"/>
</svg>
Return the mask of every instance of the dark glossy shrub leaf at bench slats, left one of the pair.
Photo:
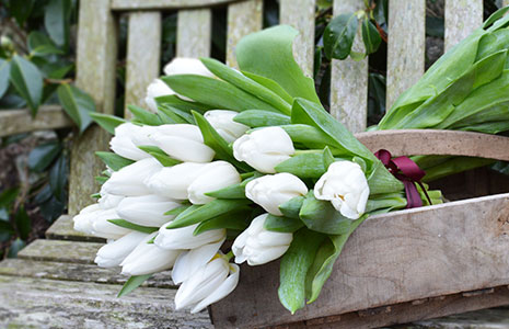
<svg viewBox="0 0 509 329">
<path fill-rule="evenodd" d="M 323 33 L 325 56 L 328 59 L 345 59 L 351 52 L 357 33 L 358 19 L 355 13 L 334 18 Z"/>
</svg>

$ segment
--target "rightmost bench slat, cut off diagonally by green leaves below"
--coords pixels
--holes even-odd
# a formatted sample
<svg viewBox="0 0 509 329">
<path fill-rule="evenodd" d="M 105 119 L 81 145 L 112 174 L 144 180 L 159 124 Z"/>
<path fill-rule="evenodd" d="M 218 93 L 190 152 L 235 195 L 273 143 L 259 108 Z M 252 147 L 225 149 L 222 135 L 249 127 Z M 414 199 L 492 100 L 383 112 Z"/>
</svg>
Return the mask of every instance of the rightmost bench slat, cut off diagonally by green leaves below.
<svg viewBox="0 0 509 329">
<path fill-rule="evenodd" d="M 483 0 L 446 0 L 446 52 L 483 24 Z"/>
</svg>

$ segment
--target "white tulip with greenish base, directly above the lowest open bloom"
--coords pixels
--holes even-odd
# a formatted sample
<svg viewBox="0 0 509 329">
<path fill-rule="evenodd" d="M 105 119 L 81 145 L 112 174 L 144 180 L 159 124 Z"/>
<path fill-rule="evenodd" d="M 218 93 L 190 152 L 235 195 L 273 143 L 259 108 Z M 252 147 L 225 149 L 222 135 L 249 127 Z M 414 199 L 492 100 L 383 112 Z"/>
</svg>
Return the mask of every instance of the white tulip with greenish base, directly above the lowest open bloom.
<svg viewBox="0 0 509 329">
<path fill-rule="evenodd" d="M 211 229 L 197 236 L 193 235 L 198 224 L 181 227 L 166 228 L 171 222 L 159 229 L 154 243 L 164 249 L 195 249 L 204 245 L 223 241 L 227 237 L 224 228 Z"/>
</svg>

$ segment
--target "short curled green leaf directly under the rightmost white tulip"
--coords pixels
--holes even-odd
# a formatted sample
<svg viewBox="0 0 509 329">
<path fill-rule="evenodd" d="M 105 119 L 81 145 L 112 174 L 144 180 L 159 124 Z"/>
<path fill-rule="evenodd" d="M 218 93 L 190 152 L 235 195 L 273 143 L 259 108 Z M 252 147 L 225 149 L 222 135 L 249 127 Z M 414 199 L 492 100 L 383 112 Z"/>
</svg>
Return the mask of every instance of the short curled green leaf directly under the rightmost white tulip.
<svg viewBox="0 0 509 329">
<path fill-rule="evenodd" d="M 312 190 L 305 195 L 299 217 L 309 229 L 329 235 L 348 232 L 352 222 L 336 211 L 331 202 L 316 200 Z"/>
</svg>

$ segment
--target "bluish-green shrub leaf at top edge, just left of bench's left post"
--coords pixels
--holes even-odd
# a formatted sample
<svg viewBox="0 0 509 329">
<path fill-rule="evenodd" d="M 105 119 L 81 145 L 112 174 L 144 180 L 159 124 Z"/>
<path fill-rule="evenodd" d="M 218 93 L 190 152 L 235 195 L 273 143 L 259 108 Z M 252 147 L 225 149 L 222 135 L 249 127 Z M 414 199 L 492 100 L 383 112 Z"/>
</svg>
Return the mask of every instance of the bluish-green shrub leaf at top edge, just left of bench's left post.
<svg viewBox="0 0 509 329">
<path fill-rule="evenodd" d="M 51 39 L 59 46 L 69 44 L 71 0 L 49 0 L 44 13 L 44 26 Z"/>
</svg>

